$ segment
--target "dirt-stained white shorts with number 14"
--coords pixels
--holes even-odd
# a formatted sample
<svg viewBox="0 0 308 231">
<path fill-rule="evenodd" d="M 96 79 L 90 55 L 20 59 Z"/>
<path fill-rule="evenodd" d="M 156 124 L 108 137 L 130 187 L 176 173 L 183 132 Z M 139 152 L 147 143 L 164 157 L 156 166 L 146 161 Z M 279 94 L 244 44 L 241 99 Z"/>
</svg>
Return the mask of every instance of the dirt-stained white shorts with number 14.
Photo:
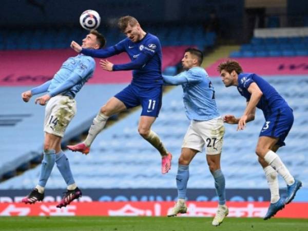
<svg viewBox="0 0 308 231">
<path fill-rule="evenodd" d="M 62 137 L 76 113 L 76 101 L 65 95 L 52 97 L 45 108 L 44 131 Z"/>
</svg>

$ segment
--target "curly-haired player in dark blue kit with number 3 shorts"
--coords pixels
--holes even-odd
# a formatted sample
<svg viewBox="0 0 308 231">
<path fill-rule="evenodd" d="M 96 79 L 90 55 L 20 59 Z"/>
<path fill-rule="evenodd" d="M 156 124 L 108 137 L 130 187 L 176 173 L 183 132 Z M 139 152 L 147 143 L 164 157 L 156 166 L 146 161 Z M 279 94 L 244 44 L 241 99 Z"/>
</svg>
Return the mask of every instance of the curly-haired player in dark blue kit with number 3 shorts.
<svg viewBox="0 0 308 231">
<path fill-rule="evenodd" d="M 278 148 L 285 145 L 284 139 L 293 125 L 293 110 L 272 85 L 255 73 L 243 73 L 238 62 L 229 60 L 221 63 L 217 69 L 224 85 L 226 87 L 236 86 L 247 102 L 242 117 L 235 118 L 234 115 L 225 115 L 226 123 L 237 124 L 237 130 L 243 130 L 246 122 L 255 119 L 256 107 L 260 108 L 264 114 L 265 123 L 259 134 L 256 153 L 271 190 L 271 204 L 264 217 L 264 220 L 267 220 L 284 208 L 285 204 L 290 203 L 302 185 L 299 180 L 294 179 L 276 154 Z M 285 200 L 279 196 L 278 174 L 287 185 Z"/>
</svg>

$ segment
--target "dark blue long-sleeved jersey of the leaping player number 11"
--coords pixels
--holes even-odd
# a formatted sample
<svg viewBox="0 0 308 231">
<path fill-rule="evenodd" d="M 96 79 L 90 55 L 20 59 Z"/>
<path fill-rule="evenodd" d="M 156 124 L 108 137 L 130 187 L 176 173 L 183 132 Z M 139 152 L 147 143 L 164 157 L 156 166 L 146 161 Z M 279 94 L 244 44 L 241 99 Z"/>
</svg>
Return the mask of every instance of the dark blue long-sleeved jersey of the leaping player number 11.
<svg viewBox="0 0 308 231">
<path fill-rule="evenodd" d="M 110 57 L 126 52 L 131 60 L 127 64 L 114 64 L 113 70 L 133 70 L 131 84 L 141 88 L 162 86 L 162 48 L 158 37 L 146 33 L 141 41 L 132 42 L 125 38 L 106 49 L 82 49 L 83 54 L 93 57 Z"/>
</svg>

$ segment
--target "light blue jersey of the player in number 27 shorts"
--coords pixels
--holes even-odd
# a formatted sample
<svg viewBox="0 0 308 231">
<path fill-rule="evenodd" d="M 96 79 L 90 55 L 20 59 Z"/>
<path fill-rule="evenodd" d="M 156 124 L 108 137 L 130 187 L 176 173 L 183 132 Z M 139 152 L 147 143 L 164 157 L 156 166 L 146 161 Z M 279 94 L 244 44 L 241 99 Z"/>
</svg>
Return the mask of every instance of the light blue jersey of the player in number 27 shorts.
<svg viewBox="0 0 308 231">
<path fill-rule="evenodd" d="M 189 120 L 207 121 L 220 116 L 215 91 L 208 74 L 201 67 L 193 67 L 176 76 L 163 75 L 164 82 L 182 85 L 183 102 Z"/>
</svg>

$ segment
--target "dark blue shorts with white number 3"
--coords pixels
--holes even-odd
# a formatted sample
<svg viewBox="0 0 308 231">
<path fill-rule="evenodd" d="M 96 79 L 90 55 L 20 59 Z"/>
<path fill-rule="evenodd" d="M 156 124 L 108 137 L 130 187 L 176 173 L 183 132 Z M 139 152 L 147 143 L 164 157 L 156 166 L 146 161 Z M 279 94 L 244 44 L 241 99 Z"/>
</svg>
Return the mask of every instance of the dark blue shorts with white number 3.
<svg viewBox="0 0 308 231">
<path fill-rule="evenodd" d="M 280 108 L 268 115 L 259 137 L 279 138 L 277 145 L 284 146 L 284 140 L 294 122 L 293 110 L 290 107 Z"/>
</svg>

